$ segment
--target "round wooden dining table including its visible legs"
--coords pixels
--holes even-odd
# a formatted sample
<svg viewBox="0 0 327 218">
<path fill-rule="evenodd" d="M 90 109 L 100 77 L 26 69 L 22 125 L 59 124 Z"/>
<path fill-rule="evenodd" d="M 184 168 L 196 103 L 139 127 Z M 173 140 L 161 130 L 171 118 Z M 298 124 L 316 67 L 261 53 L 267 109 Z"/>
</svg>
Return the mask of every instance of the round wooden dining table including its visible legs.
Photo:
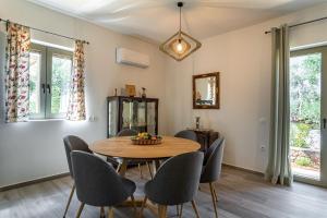
<svg viewBox="0 0 327 218">
<path fill-rule="evenodd" d="M 197 142 L 171 136 L 164 136 L 161 144 L 158 145 L 133 145 L 131 136 L 122 136 L 97 141 L 89 146 L 89 149 L 96 154 L 122 159 L 122 162 L 118 167 L 118 172 L 122 177 L 125 177 L 129 160 L 136 159 L 145 160 L 147 162 L 152 161 L 154 165 L 153 174 L 155 174 L 159 167 L 158 160 L 195 152 L 199 148 L 201 145 Z M 142 206 L 143 204 L 153 213 L 157 214 L 156 205 L 150 202 L 145 204 L 143 199 L 132 199 L 132 202 L 126 201 L 120 206 L 135 207 Z"/>
</svg>

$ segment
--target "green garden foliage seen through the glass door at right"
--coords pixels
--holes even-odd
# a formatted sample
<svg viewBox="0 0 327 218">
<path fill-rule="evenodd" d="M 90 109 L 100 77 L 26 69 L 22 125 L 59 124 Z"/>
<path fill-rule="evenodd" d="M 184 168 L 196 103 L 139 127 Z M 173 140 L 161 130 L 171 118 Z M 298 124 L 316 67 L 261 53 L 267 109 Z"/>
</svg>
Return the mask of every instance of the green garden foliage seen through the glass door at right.
<svg viewBox="0 0 327 218">
<path fill-rule="evenodd" d="M 320 125 L 322 56 L 313 53 L 291 59 L 290 64 L 290 144 L 311 147 L 311 130 Z"/>
</svg>

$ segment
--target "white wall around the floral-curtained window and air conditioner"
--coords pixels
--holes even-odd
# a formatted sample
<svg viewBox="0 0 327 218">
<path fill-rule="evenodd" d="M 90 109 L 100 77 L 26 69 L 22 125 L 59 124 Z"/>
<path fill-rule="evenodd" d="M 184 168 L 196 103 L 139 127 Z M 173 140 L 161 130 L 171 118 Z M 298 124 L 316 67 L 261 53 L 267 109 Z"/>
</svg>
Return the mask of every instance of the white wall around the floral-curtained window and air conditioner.
<svg viewBox="0 0 327 218">
<path fill-rule="evenodd" d="M 0 0 L 0 17 L 86 39 L 87 117 L 96 122 L 39 121 L 0 124 L 0 186 L 66 172 L 62 137 L 76 134 L 88 143 L 106 137 L 106 97 L 116 87 L 135 84 L 159 98 L 159 132 L 165 133 L 165 56 L 155 45 L 34 5 L 24 0 Z M 1 24 L 2 25 L 2 24 Z M 3 28 L 3 27 L 2 27 Z M 33 33 L 33 38 L 72 47 L 72 41 Z M 3 46 L 3 45 L 2 45 Z M 116 47 L 150 55 L 150 66 L 137 69 L 116 63 Z M 3 60 L 3 56 L 0 57 Z M 2 88 L 2 87 L 1 87 Z"/>
</svg>

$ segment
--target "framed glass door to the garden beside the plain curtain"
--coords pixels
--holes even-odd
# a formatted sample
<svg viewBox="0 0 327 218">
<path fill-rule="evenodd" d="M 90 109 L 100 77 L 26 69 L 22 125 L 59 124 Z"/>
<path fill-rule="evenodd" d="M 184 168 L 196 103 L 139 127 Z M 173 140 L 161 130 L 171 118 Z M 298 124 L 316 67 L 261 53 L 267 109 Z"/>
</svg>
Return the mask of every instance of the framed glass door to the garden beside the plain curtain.
<svg viewBox="0 0 327 218">
<path fill-rule="evenodd" d="M 295 180 L 327 184 L 327 47 L 290 59 L 290 149 Z"/>
</svg>

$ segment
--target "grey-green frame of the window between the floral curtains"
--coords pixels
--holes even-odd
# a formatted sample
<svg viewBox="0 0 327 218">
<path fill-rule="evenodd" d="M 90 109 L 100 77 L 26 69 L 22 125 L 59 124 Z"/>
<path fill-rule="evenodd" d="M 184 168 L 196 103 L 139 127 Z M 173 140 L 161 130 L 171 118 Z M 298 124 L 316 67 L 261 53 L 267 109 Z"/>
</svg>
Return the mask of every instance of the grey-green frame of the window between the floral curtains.
<svg viewBox="0 0 327 218">
<path fill-rule="evenodd" d="M 40 84 L 39 84 L 40 112 L 31 113 L 29 119 L 31 120 L 64 119 L 65 113 L 51 112 L 52 57 L 53 55 L 69 57 L 72 61 L 71 71 L 73 71 L 73 51 L 44 46 L 35 43 L 32 44 L 31 51 L 39 52 L 41 55 L 41 60 L 40 60 Z"/>
</svg>

